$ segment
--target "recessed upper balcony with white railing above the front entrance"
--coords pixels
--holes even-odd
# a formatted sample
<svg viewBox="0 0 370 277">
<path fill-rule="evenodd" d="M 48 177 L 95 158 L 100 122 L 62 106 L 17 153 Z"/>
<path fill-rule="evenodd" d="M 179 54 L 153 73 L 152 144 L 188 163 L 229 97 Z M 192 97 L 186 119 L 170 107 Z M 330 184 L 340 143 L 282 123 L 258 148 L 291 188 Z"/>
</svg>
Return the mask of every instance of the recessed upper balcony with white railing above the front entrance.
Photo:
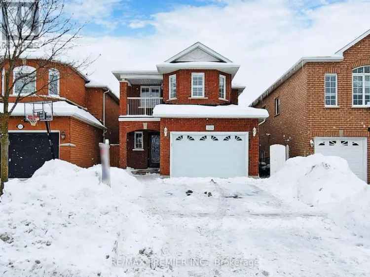
<svg viewBox="0 0 370 277">
<path fill-rule="evenodd" d="M 163 104 L 162 97 L 127 97 L 127 115 L 152 116 L 158 104 Z"/>
</svg>

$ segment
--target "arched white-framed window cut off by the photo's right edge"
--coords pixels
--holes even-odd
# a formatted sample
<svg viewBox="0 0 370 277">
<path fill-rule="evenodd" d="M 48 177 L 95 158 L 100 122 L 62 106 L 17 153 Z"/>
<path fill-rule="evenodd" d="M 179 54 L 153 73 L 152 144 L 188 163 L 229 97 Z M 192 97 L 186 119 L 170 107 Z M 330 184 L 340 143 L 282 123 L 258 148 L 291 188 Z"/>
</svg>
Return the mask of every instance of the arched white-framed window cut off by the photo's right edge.
<svg viewBox="0 0 370 277">
<path fill-rule="evenodd" d="M 370 66 L 352 70 L 352 91 L 354 106 L 370 105 Z"/>
</svg>

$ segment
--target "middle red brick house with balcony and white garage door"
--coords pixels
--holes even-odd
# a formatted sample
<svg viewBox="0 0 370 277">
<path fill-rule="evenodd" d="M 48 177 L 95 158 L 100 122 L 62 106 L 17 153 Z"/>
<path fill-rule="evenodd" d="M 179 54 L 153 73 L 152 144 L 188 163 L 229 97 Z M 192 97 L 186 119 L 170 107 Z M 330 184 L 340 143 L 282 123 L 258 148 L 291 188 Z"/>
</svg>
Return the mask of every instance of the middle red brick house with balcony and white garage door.
<svg viewBox="0 0 370 277">
<path fill-rule="evenodd" d="M 239 65 L 197 42 L 120 82 L 120 167 L 170 176 L 257 176 L 263 109 L 238 106 Z"/>
</svg>

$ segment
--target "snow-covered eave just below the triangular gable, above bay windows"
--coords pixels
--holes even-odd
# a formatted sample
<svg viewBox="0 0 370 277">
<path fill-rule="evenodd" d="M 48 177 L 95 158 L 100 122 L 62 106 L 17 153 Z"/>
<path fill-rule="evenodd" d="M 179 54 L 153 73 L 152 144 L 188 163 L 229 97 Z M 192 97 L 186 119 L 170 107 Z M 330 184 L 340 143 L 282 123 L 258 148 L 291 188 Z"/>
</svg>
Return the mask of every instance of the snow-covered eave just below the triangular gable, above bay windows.
<svg viewBox="0 0 370 277">
<path fill-rule="evenodd" d="M 234 77 L 240 65 L 234 63 L 220 62 L 184 62 L 184 63 L 164 63 L 157 65 L 159 73 L 170 73 L 179 69 L 217 69 L 225 73 L 229 73 Z"/>
</svg>

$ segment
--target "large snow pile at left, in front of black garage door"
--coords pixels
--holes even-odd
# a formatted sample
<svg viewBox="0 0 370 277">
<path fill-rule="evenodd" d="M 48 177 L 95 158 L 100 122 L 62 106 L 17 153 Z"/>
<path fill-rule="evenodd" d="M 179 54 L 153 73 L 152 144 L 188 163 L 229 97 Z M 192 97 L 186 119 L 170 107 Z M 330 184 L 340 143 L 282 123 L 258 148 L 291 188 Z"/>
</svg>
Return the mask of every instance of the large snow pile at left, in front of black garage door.
<svg viewBox="0 0 370 277">
<path fill-rule="evenodd" d="M 100 172 L 100 166 L 83 169 L 54 160 L 28 180 L 6 183 L 1 276 L 121 276 L 112 258 L 160 248 L 153 245 L 152 236 L 162 232 L 156 218 L 135 204 L 142 183 L 112 168 L 108 187 Z"/>
</svg>

